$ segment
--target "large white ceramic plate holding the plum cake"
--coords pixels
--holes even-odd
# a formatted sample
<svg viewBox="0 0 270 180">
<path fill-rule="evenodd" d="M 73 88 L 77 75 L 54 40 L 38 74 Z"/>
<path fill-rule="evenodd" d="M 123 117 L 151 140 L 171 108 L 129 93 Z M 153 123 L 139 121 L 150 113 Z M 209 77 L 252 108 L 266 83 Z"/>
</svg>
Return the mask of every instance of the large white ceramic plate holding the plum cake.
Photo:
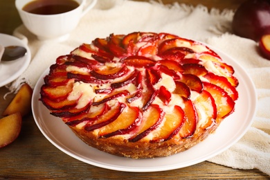
<svg viewBox="0 0 270 180">
<path fill-rule="evenodd" d="M 244 135 L 251 125 L 257 101 L 255 87 L 244 69 L 231 57 L 220 51 L 216 52 L 224 58 L 225 62 L 234 67 L 235 76 L 240 82 L 237 87 L 240 97 L 236 101 L 235 112 L 222 122 L 215 134 L 211 134 L 206 140 L 185 152 L 163 158 L 129 159 L 89 147 L 75 136 L 60 118 L 51 116 L 46 107 L 39 101 L 39 90 L 48 70 L 39 78 L 34 89 L 32 109 L 35 122 L 48 141 L 62 152 L 101 168 L 127 172 L 155 172 L 200 163 L 228 149 Z"/>
</svg>

